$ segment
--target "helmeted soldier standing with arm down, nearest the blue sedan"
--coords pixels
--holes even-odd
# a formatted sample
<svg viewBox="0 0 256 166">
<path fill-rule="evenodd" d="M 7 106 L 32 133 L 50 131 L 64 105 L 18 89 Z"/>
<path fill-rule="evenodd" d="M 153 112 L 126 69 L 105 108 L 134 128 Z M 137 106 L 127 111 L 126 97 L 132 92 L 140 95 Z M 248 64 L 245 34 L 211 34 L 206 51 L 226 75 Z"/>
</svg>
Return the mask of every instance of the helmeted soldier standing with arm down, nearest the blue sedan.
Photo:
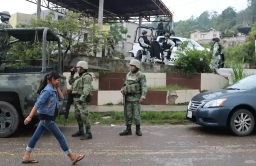
<svg viewBox="0 0 256 166">
<path fill-rule="evenodd" d="M 140 61 L 131 60 L 131 71 L 126 75 L 125 86 L 121 89 L 122 94 L 126 94 L 126 130 L 119 133 L 119 135 L 132 135 L 132 118 L 136 125 L 136 135 L 142 136 L 140 131 L 140 103 L 144 102 L 146 93 L 148 91 L 146 76 L 139 70 Z"/>
</svg>

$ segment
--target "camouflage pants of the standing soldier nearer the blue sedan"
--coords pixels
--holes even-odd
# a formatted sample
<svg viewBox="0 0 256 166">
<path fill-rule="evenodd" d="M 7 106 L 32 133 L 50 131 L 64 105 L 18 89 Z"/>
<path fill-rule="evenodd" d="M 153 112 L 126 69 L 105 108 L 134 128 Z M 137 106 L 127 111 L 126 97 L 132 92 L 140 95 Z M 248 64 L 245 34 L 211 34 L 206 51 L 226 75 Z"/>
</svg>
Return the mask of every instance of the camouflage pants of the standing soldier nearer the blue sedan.
<svg viewBox="0 0 256 166">
<path fill-rule="evenodd" d="M 131 125 L 134 116 L 135 125 L 140 125 L 140 103 L 138 101 L 126 101 L 126 125 Z"/>
</svg>

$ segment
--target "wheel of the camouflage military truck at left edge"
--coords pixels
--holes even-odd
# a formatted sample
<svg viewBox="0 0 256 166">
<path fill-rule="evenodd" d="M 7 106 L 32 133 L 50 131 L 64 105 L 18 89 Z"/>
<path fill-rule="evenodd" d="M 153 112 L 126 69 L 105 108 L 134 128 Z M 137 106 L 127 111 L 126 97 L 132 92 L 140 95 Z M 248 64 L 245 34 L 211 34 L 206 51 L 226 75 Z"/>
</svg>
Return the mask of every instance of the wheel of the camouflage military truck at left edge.
<svg viewBox="0 0 256 166">
<path fill-rule="evenodd" d="M 19 114 L 8 102 L 0 101 L 0 138 L 11 136 L 19 126 Z"/>
</svg>

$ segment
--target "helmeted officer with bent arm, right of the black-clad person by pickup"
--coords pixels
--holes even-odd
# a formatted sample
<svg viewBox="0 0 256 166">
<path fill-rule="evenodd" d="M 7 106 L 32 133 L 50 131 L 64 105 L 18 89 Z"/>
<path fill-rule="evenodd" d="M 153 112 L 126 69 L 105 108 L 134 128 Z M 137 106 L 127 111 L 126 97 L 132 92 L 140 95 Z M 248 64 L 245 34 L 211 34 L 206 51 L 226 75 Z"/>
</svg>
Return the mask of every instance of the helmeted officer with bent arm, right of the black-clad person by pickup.
<svg viewBox="0 0 256 166">
<path fill-rule="evenodd" d="M 163 42 L 163 59 L 164 63 L 168 64 L 171 56 L 171 51 L 173 47 L 175 46 L 175 43 L 170 39 L 169 33 L 165 33 L 165 41 Z"/>
</svg>

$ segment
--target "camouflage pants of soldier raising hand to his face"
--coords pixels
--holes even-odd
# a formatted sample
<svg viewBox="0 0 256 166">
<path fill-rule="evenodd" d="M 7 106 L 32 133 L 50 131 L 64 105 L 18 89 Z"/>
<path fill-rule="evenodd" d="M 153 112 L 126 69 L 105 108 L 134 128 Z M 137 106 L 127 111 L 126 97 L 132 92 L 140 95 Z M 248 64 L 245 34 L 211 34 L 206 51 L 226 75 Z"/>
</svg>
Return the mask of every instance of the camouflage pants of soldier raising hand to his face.
<svg viewBox="0 0 256 166">
<path fill-rule="evenodd" d="M 85 102 L 81 105 L 78 104 L 79 98 L 74 98 L 75 118 L 78 124 L 85 124 L 86 129 L 91 129 L 91 121 L 89 118 L 88 104 Z"/>
</svg>

